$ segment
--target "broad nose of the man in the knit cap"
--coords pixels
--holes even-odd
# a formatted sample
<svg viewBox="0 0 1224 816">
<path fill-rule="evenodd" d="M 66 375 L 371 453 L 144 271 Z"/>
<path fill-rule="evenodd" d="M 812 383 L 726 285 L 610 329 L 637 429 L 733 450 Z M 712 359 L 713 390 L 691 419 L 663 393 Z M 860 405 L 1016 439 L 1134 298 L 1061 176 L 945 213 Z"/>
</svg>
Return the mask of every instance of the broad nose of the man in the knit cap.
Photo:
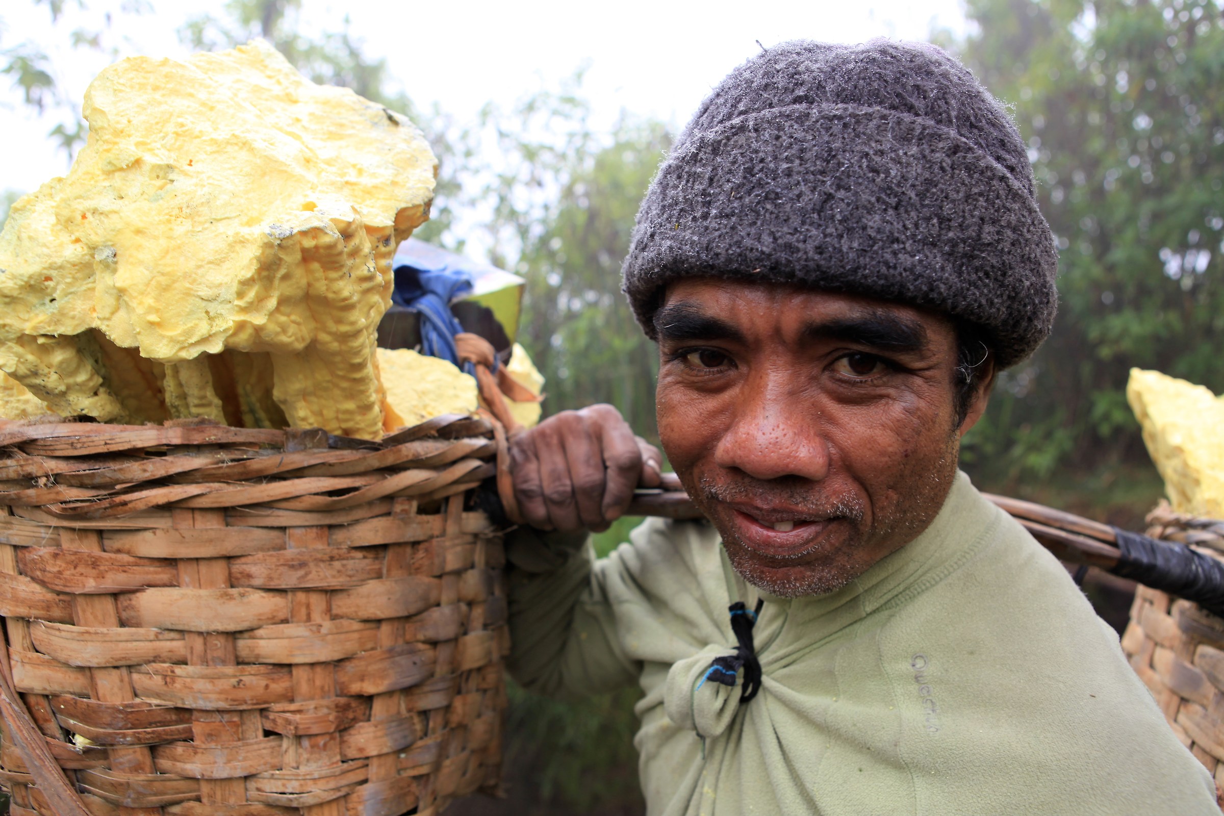
<svg viewBox="0 0 1224 816">
<path fill-rule="evenodd" d="M 715 447 L 715 464 L 759 480 L 798 476 L 820 481 L 829 475 L 830 464 L 820 414 L 810 396 L 793 393 L 778 379 L 761 377 L 742 390 L 731 426 Z"/>
</svg>

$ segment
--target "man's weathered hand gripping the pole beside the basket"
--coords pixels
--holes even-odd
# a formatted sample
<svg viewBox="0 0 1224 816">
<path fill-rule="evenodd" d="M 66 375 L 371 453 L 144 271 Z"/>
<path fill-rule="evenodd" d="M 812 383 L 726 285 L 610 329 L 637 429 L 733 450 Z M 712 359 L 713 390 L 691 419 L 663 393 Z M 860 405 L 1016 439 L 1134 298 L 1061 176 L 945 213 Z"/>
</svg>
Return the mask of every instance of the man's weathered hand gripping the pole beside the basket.
<svg viewBox="0 0 1224 816">
<path fill-rule="evenodd" d="M 635 487 L 659 487 L 661 465 L 611 405 L 562 411 L 510 443 L 519 511 L 540 530 L 607 530 Z"/>
</svg>

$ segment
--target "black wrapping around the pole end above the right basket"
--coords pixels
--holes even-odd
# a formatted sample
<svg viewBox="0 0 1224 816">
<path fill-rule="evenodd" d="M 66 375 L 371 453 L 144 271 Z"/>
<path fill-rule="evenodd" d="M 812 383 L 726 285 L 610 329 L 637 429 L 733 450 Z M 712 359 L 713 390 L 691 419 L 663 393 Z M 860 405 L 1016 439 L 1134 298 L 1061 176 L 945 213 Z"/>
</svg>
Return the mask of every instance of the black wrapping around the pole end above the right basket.
<svg viewBox="0 0 1224 816">
<path fill-rule="evenodd" d="M 1224 618 L 1224 564 L 1186 544 L 1173 544 L 1118 527 L 1114 527 L 1114 533 L 1121 557 L 1110 573 L 1193 601 Z"/>
</svg>

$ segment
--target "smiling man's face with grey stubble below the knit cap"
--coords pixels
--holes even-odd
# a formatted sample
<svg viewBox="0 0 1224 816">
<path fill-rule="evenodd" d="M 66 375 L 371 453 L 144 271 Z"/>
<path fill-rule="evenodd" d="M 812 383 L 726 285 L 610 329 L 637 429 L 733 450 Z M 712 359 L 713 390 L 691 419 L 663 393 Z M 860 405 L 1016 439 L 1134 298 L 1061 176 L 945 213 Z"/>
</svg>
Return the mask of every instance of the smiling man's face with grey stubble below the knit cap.
<svg viewBox="0 0 1224 816">
<path fill-rule="evenodd" d="M 944 504 L 960 437 L 956 332 L 870 297 L 712 279 L 667 287 L 659 433 L 744 580 L 837 590 Z"/>
</svg>

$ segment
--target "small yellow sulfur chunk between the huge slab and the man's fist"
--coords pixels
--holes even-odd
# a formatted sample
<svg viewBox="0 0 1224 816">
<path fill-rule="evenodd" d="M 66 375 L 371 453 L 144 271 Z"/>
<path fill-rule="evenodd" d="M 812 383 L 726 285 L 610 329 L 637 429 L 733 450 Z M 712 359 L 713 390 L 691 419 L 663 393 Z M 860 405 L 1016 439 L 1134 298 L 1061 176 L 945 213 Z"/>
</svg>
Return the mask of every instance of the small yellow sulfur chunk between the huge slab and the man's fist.
<svg viewBox="0 0 1224 816">
<path fill-rule="evenodd" d="M 446 360 L 411 349 L 378 349 L 378 368 L 387 402 L 399 417 L 397 427 L 476 411 L 476 379 Z"/>
</svg>

